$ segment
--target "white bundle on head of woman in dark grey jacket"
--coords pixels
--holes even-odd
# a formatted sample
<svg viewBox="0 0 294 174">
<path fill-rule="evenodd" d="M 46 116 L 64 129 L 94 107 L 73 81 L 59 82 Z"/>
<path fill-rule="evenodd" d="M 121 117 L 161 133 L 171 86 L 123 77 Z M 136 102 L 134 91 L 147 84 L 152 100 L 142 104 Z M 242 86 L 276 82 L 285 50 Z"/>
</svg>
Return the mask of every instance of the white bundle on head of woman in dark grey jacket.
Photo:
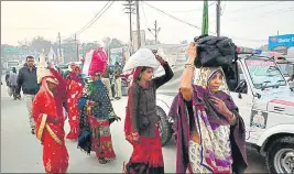
<svg viewBox="0 0 294 174">
<path fill-rule="evenodd" d="M 150 48 L 139 48 L 126 63 L 123 72 L 129 72 L 139 66 L 148 66 L 154 68 L 160 66 L 159 61 Z"/>
</svg>

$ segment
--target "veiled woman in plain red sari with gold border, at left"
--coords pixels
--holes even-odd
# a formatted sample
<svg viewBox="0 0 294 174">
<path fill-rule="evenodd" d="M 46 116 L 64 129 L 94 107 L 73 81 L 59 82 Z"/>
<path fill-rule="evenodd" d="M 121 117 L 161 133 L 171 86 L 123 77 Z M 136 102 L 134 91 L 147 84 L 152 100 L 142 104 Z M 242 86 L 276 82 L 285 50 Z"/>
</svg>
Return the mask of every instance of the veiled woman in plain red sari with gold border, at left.
<svg viewBox="0 0 294 174">
<path fill-rule="evenodd" d="M 47 69 L 42 77 L 41 89 L 33 100 L 32 116 L 36 138 L 43 145 L 43 165 L 46 173 L 66 173 L 69 157 L 64 141 L 62 104 L 65 84 L 52 66 L 51 72 Z"/>
</svg>

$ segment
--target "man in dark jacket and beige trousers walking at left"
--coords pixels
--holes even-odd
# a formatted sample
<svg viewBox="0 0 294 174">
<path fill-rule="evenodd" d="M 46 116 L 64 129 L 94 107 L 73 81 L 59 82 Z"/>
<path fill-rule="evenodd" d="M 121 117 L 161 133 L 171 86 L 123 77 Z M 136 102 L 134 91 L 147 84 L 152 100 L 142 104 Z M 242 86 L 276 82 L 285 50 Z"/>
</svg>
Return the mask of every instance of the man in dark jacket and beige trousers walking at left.
<svg viewBox="0 0 294 174">
<path fill-rule="evenodd" d="M 24 100 L 26 102 L 26 108 L 29 111 L 29 121 L 32 129 L 32 134 L 34 134 L 35 123 L 32 118 L 32 102 L 39 91 L 39 85 L 36 81 L 36 67 L 34 66 L 34 57 L 28 56 L 26 63 L 19 70 L 18 76 L 18 95 L 23 91 Z"/>
</svg>

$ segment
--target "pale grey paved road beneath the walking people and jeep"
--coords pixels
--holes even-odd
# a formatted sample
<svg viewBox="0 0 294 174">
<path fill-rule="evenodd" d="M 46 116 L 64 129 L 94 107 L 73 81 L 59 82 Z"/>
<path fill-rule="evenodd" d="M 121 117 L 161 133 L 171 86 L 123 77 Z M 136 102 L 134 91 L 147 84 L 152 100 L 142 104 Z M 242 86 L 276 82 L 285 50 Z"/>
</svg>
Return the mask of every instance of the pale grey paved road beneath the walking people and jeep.
<svg viewBox="0 0 294 174">
<path fill-rule="evenodd" d="M 2 173 L 43 173 L 42 146 L 35 135 L 30 133 L 28 112 L 23 100 L 14 101 L 7 95 L 6 85 L 1 86 L 1 172 Z M 113 101 L 116 112 L 124 118 L 127 98 Z M 65 126 L 68 132 L 68 123 Z M 99 164 L 95 154 L 87 156 L 78 150 L 75 142 L 66 140 L 69 152 L 68 173 L 120 173 L 123 161 L 128 161 L 132 148 L 123 137 L 123 121 L 111 126 L 117 160 Z M 165 172 L 175 172 L 175 144 L 163 148 Z M 248 151 L 247 173 L 268 173 L 264 160 L 254 151 Z"/>
</svg>

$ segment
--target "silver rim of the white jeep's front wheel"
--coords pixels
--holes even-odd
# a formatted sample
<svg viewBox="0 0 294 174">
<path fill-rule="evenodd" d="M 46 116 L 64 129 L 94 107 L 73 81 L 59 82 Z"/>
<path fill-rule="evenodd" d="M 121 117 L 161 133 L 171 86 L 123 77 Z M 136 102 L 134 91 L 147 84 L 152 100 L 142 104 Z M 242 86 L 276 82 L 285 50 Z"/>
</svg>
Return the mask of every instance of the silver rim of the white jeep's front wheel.
<svg viewBox="0 0 294 174">
<path fill-rule="evenodd" d="M 274 167 L 277 173 L 294 173 L 294 150 L 280 150 L 274 156 Z"/>
</svg>

